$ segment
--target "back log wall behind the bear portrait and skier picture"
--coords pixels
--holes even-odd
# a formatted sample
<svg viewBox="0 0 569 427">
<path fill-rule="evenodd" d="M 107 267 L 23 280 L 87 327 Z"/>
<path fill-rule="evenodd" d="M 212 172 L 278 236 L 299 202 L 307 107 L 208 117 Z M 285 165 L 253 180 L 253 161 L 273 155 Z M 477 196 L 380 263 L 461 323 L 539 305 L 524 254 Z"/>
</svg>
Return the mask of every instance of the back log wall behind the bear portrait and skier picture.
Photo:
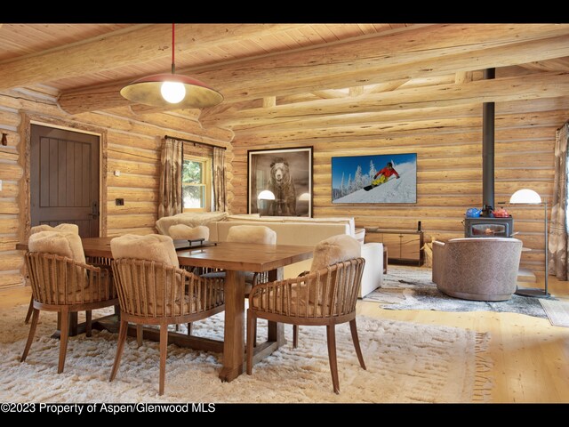
<svg viewBox="0 0 569 427">
<path fill-rule="evenodd" d="M 421 120 L 421 112 L 408 122 L 373 125 L 350 122 L 346 126 L 236 131 L 233 142 L 235 177 L 232 182 L 234 213 L 245 213 L 247 150 L 277 147 L 314 147 L 314 216 L 354 216 L 358 226 L 414 230 L 417 222 L 431 238 L 463 236 L 461 223 L 467 208 L 482 206 L 482 105 L 469 109 L 438 109 L 448 118 Z M 507 205 L 514 191 L 535 189 L 552 200 L 555 131 L 569 117 L 567 101 L 535 100 L 496 104 L 495 200 L 515 218 L 525 247 L 525 268 L 542 271 L 544 262 L 543 209 Z M 411 120 L 421 120 L 420 122 Z M 331 158 L 371 154 L 417 153 L 416 205 L 334 205 L 331 201 Z"/>
</svg>

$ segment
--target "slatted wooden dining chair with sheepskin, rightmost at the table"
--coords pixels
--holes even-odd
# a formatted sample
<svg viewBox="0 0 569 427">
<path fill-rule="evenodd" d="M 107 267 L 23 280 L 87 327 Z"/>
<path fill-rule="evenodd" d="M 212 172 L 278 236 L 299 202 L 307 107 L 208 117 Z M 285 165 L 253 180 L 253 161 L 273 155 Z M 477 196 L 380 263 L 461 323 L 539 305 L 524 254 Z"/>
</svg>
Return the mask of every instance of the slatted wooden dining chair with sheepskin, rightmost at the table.
<svg viewBox="0 0 569 427">
<path fill-rule="evenodd" d="M 248 375 L 252 374 L 257 318 L 292 324 L 295 328 L 294 347 L 297 345 L 299 325 L 326 326 L 328 359 L 335 393 L 340 392 L 335 326 L 349 322 L 357 359 L 365 369 L 356 324 L 357 294 L 365 259 L 359 256 L 349 258 L 351 254 L 359 252 L 354 242 L 359 245 L 347 235 L 325 239 L 315 248 L 315 258 L 309 274 L 252 287 L 247 310 Z"/>
</svg>

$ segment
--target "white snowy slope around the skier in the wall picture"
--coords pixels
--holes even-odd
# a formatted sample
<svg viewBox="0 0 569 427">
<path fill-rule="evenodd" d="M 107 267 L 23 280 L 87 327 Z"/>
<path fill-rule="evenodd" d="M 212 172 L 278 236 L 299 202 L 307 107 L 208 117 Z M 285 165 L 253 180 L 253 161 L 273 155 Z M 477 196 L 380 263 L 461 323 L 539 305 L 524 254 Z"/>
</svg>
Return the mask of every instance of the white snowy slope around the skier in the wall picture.
<svg viewBox="0 0 569 427">
<path fill-rule="evenodd" d="M 389 181 L 365 191 L 363 188 L 371 183 L 368 174 L 363 175 L 362 188 L 356 189 L 346 196 L 333 199 L 333 203 L 416 203 L 417 202 L 417 163 L 405 162 L 394 165 L 400 178 L 395 175 Z M 355 171 L 356 172 L 356 171 Z M 356 176 L 356 173 L 353 175 Z M 360 184 L 361 185 L 361 184 Z M 333 189 L 333 191 L 338 191 Z"/>
</svg>

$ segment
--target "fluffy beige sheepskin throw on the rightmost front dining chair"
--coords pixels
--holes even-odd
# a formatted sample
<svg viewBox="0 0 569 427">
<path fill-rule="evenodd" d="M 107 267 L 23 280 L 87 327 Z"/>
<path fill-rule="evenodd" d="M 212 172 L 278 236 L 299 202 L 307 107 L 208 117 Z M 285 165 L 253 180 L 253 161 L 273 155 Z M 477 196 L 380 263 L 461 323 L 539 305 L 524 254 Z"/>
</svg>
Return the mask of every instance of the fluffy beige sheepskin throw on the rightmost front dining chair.
<svg viewBox="0 0 569 427">
<path fill-rule="evenodd" d="M 347 234 L 339 234 L 332 238 L 322 240 L 314 248 L 312 266 L 310 272 L 325 269 L 329 265 L 338 262 L 359 258 L 362 254 L 362 246 L 359 242 Z"/>
</svg>

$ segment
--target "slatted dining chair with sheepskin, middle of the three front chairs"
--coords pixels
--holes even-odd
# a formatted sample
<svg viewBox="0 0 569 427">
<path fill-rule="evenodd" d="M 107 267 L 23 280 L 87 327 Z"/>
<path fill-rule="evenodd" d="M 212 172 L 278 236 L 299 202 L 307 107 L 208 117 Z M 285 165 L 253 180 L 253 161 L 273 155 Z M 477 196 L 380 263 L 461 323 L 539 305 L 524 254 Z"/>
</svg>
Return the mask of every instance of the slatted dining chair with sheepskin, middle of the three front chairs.
<svg viewBox="0 0 569 427">
<path fill-rule="evenodd" d="M 172 238 L 125 235 L 111 240 L 113 272 L 121 307 L 116 357 L 120 365 L 128 323 L 160 326 L 160 383 L 164 394 L 168 325 L 191 323 L 225 310 L 223 280 L 201 278 L 178 266 Z"/>
</svg>

